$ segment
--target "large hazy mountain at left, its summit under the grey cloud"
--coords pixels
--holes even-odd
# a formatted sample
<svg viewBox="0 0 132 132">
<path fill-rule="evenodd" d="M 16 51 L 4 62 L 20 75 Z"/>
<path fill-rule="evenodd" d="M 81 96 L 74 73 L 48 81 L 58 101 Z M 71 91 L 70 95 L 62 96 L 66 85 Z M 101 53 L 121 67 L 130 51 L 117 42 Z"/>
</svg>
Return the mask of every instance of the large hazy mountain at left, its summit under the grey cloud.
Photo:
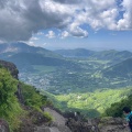
<svg viewBox="0 0 132 132">
<path fill-rule="evenodd" d="M 0 44 L 0 58 L 12 62 L 21 72 L 35 72 L 33 65 L 79 68 L 79 66 L 61 55 L 42 47 L 29 46 L 24 43 Z"/>
</svg>

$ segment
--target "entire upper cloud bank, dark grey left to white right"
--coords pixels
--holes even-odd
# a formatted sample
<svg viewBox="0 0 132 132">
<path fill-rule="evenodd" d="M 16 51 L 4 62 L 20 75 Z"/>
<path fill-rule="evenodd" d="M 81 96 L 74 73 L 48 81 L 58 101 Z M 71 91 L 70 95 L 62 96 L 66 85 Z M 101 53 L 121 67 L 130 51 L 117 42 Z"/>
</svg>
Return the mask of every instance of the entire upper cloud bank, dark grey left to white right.
<svg viewBox="0 0 132 132">
<path fill-rule="evenodd" d="M 84 24 L 95 31 L 132 30 L 131 6 L 132 0 L 0 0 L 0 40 L 28 41 L 52 28 L 86 37 Z"/>
</svg>

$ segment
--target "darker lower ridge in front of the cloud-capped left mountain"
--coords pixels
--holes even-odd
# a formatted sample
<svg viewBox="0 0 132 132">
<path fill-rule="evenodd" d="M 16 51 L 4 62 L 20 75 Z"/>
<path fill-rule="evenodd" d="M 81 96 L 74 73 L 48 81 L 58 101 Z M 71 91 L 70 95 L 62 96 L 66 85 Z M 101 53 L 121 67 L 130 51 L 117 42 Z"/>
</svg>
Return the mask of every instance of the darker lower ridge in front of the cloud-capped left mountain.
<svg viewBox="0 0 132 132">
<path fill-rule="evenodd" d="M 14 63 L 20 70 L 22 69 L 26 70 L 26 68 L 32 69 L 33 65 L 59 66 L 59 67 L 76 66 L 70 61 L 66 61 L 63 58 L 56 58 L 56 57 L 45 57 L 42 54 L 35 54 L 35 53 L 16 53 L 4 59 Z"/>
</svg>

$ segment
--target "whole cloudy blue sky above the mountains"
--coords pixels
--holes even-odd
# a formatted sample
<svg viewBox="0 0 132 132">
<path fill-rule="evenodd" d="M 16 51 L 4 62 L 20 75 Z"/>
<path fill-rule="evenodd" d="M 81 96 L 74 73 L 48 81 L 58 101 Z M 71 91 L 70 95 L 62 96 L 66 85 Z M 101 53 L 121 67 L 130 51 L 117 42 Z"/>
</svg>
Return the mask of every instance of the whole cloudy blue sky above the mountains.
<svg viewBox="0 0 132 132">
<path fill-rule="evenodd" d="M 0 0 L 0 43 L 132 51 L 132 0 Z"/>
</svg>

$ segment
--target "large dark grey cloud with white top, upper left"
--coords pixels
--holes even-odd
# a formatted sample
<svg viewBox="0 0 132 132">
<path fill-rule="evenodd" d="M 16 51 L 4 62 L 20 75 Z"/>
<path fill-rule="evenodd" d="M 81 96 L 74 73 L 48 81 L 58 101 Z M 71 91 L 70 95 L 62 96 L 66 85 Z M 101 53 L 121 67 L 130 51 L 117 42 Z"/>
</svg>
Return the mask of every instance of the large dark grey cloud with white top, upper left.
<svg viewBox="0 0 132 132">
<path fill-rule="evenodd" d="M 0 40 L 28 41 L 38 30 L 61 29 L 70 20 L 69 8 L 51 0 L 0 1 Z"/>
</svg>

